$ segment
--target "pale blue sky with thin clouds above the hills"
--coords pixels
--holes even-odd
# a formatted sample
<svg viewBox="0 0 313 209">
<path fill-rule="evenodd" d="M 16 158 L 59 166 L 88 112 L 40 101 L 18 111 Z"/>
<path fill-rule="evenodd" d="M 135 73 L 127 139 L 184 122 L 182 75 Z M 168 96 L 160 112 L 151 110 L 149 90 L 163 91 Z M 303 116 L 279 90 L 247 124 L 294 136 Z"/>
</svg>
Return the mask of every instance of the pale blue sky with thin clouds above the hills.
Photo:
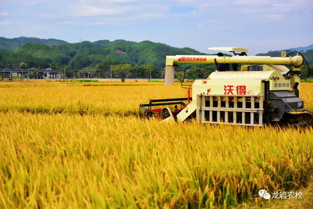
<svg viewBox="0 0 313 209">
<path fill-rule="evenodd" d="M 150 40 L 249 55 L 313 44 L 312 0 L 1 0 L 0 36 Z"/>
</svg>

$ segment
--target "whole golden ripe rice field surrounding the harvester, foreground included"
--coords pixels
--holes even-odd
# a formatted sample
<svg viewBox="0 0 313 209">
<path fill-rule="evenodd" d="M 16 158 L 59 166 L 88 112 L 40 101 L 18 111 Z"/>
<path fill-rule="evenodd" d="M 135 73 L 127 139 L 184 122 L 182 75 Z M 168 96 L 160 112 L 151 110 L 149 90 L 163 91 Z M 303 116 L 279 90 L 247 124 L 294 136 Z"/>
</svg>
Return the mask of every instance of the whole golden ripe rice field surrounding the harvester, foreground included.
<svg viewBox="0 0 313 209">
<path fill-rule="evenodd" d="M 313 84 L 301 83 L 313 111 Z M 310 208 L 313 130 L 164 124 L 180 84 L 0 82 L 0 208 Z M 270 199 L 266 191 L 301 191 Z"/>
</svg>

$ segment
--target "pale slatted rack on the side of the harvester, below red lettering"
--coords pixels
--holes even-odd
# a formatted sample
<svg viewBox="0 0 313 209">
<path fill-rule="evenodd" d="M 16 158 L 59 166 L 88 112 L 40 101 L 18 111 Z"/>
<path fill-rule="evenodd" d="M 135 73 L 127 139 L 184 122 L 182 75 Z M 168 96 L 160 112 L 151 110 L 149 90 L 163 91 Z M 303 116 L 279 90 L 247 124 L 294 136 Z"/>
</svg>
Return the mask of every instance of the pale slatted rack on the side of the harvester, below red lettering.
<svg viewBox="0 0 313 209">
<path fill-rule="evenodd" d="M 247 98 L 248 97 L 248 98 Z M 263 126 L 263 97 L 264 95 L 197 95 L 197 121 L 210 124 L 229 124 L 229 125 L 247 125 L 247 126 Z M 238 101 L 238 99 L 242 101 Z M 250 99 L 248 101 L 247 99 Z M 256 99 L 259 99 L 257 102 Z M 213 101 L 217 101 L 217 105 L 213 105 Z M 225 106 L 222 107 L 222 101 Z M 229 103 L 233 107 L 229 107 Z M 247 108 L 247 102 L 251 102 Z M 240 105 L 239 105 L 240 104 Z M 258 108 L 256 108 L 256 104 Z M 240 107 L 239 107 L 240 106 Z M 221 116 L 224 114 L 224 117 Z M 249 115 L 246 113 L 250 113 Z M 232 121 L 229 121 L 229 116 Z M 241 115 L 240 118 L 237 116 Z M 246 117 L 247 116 L 247 117 Z M 248 118 L 250 116 L 250 118 Z M 255 120 L 258 116 L 258 120 Z"/>
</svg>

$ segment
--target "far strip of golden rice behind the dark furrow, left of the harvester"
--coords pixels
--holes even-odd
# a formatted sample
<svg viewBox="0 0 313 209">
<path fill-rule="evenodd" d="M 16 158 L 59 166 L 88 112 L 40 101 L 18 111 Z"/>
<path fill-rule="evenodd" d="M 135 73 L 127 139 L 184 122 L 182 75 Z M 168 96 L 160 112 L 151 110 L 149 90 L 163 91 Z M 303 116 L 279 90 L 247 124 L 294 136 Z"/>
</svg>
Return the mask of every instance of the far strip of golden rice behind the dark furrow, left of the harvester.
<svg viewBox="0 0 313 209">
<path fill-rule="evenodd" d="M 129 116 L 137 115 L 139 104 L 148 99 L 187 97 L 187 89 L 182 89 L 180 84 L 170 88 L 162 83 L 49 84 L 46 88 L 28 83 L 0 88 L 0 111 Z"/>
</svg>

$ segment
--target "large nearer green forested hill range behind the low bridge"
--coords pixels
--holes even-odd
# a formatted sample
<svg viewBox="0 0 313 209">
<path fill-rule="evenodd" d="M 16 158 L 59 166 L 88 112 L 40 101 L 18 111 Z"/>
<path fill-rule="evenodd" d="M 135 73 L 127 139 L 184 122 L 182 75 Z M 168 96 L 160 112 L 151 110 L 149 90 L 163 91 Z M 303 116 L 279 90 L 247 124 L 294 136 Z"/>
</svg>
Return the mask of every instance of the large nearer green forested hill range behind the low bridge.
<svg viewBox="0 0 313 209">
<path fill-rule="evenodd" d="M 119 52 L 117 52 L 119 51 Z M 153 64 L 165 67 L 165 57 L 176 54 L 204 54 L 191 48 L 175 48 L 163 43 L 125 40 L 100 40 L 94 43 L 68 43 L 47 46 L 40 43 L 26 43 L 15 50 L 0 52 L 0 68 L 21 62 L 35 68 L 82 69 L 100 63 L 110 64 Z"/>
</svg>

